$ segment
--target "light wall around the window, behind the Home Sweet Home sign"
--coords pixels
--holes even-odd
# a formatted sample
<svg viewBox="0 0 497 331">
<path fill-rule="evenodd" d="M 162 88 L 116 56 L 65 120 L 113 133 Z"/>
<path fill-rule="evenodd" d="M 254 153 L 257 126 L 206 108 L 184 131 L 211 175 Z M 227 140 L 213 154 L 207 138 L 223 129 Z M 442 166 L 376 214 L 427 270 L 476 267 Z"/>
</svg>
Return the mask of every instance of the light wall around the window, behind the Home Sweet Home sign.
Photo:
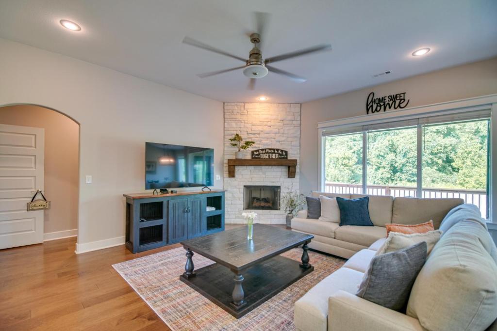
<svg viewBox="0 0 497 331">
<path fill-rule="evenodd" d="M 380 78 L 381 79 L 381 78 Z M 456 66 L 302 104 L 300 191 L 318 189 L 318 122 L 366 114 L 366 99 L 407 92 L 408 107 L 497 93 L 497 58 Z M 375 116 L 375 115 L 371 115 Z"/>
</svg>

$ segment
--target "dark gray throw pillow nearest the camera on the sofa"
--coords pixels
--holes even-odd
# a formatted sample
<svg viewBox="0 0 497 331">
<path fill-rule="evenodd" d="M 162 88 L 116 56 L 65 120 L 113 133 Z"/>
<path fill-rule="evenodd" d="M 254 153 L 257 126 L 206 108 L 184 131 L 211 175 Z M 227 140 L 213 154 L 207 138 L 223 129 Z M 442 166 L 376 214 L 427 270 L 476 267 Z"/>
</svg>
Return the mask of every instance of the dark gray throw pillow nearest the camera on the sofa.
<svg viewBox="0 0 497 331">
<path fill-rule="evenodd" d="M 364 274 L 358 297 L 396 311 L 406 309 L 414 280 L 426 261 L 426 243 L 377 255 Z"/>
</svg>

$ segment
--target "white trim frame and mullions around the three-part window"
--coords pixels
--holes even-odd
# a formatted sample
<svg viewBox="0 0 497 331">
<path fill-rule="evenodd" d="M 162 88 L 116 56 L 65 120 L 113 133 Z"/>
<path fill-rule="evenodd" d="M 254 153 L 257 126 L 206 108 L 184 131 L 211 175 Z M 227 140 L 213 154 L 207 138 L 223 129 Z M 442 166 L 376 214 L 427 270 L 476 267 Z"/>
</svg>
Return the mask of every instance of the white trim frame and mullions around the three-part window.
<svg viewBox="0 0 497 331">
<path fill-rule="evenodd" d="M 318 191 L 325 191 L 326 167 L 325 167 L 325 139 L 327 131 L 347 130 L 347 128 L 381 124 L 386 122 L 413 120 L 425 117 L 453 115 L 458 113 L 490 110 L 489 123 L 489 222 L 497 224 L 497 94 L 470 98 L 465 100 L 444 102 L 428 106 L 406 108 L 403 110 L 388 111 L 374 115 L 363 115 L 339 120 L 318 123 Z M 422 139 L 423 124 L 417 124 L 417 183 L 416 195 L 422 197 Z M 363 192 L 367 192 L 367 130 L 363 129 Z"/>
</svg>

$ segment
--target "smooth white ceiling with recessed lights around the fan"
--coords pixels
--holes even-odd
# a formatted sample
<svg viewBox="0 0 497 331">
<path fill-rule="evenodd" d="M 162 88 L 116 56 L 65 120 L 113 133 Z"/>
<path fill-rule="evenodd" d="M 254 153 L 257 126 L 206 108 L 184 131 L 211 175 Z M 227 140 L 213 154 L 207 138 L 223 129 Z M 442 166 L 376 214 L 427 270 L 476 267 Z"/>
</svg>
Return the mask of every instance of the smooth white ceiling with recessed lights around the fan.
<svg viewBox="0 0 497 331">
<path fill-rule="evenodd" d="M 333 50 L 273 64 L 304 83 L 270 72 L 250 91 L 241 70 L 197 77 L 243 63 L 182 39 L 248 58 L 253 11 L 272 14 L 264 58 L 323 43 Z M 494 57 L 496 22 L 495 0 L 0 0 L 2 38 L 220 101 L 304 102 Z M 411 56 L 422 47 L 431 52 Z"/>
</svg>

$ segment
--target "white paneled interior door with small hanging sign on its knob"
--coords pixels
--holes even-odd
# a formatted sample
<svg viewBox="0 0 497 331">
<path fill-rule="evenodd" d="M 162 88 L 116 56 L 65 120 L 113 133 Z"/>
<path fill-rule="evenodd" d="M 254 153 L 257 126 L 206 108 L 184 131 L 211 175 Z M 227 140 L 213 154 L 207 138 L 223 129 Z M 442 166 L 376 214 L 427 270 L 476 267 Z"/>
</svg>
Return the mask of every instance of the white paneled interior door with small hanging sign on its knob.
<svg viewBox="0 0 497 331">
<path fill-rule="evenodd" d="M 0 249 L 43 242 L 43 210 L 26 203 L 43 190 L 44 138 L 45 129 L 0 124 Z"/>
</svg>

